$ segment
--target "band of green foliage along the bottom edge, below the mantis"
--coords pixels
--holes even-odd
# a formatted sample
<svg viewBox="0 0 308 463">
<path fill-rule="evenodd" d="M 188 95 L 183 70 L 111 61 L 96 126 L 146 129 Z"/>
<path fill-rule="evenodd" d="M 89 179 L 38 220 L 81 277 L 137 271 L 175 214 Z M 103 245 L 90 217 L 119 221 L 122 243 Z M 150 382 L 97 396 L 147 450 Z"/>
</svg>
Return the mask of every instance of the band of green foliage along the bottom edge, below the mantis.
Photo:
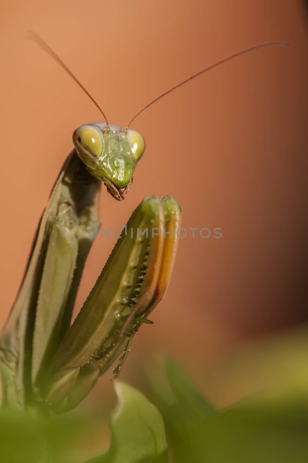
<svg viewBox="0 0 308 463">
<path fill-rule="evenodd" d="M 308 391 L 282 394 L 282 385 L 217 411 L 179 366 L 167 360 L 165 367 L 152 380 L 157 407 L 115 382 L 109 451 L 88 463 L 308 461 Z M 0 462 L 73 462 L 74 442 L 89 425 L 86 416 L 38 419 L 2 410 Z"/>
</svg>

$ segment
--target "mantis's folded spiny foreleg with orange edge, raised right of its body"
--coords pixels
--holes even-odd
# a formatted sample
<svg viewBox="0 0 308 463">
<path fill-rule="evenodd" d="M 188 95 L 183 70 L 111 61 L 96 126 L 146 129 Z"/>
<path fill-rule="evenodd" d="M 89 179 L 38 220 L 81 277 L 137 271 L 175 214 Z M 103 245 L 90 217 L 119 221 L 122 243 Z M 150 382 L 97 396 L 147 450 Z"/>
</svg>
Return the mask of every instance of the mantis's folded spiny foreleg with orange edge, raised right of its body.
<svg viewBox="0 0 308 463">
<path fill-rule="evenodd" d="M 145 198 L 132 214 L 127 233 L 123 230 L 51 361 L 45 400 L 54 411 L 75 407 L 121 353 L 115 375 L 122 369 L 133 336 L 166 292 L 180 214 L 179 204 L 170 196 Z M 73 369 L 78 371 L 74 385 Z"/>
</svg>

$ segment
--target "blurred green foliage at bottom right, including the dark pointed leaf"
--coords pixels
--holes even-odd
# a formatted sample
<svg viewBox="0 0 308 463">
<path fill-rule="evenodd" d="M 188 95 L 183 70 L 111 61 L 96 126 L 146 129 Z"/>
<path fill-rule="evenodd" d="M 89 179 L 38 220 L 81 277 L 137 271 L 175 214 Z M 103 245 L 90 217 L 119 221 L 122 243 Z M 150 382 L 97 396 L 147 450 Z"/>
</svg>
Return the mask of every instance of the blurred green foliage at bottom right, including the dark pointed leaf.
<svg viewBox="0 0 308 463">
<path fill-rule="evenodd" d="M 270 391 L 215 413 L 178 367 L 168 361 L 166 370 L 175 392 L 163 411 L 173 463 L 308 461 L 308 399 L 277 406 Z"/>
</svg>

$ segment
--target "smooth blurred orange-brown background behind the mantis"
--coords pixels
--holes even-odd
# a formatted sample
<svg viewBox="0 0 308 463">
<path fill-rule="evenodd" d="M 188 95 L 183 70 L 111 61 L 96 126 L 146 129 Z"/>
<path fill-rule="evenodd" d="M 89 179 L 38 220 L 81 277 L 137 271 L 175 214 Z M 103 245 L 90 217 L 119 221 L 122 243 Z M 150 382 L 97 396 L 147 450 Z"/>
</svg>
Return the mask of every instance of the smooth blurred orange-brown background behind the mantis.
<svg viewBox="0 0 308 463">
<path fill-rule="evenodd" d="M 131 128 L 143 134 L 146 152 L 133 188 L 122 203 L 103 188 L 100 207 L 104 228 L 113 228 L 144 196 L 171 194 L 186 230 L 222 229 L 221 239 L 202 239 L 199 231 L 192 238 L 188 230 L 180 240 L 167 295 L 152 314 L 154 326 L 135 337 L 122 379 L 137 383 L 150 356 L 164 353 L 206 389 L 203 370 L 215 356 L 307 320 L 305 19 L 294 0 L 2 0 L 0 325 L 71 134 L 101 119 L 63 69 L 27 40 L 27 30 L 58 53 L 110 123 L 122 126 L 211 63 L 263 42 L 290 44 L 240 56 L 138 117 Z M 98 238 L 93 245 L 77 307 L 114 244 Z M 228 385 L 220 388 L 217 398 Z M 97 407 L 102 389 L 112 394 L 108 375 L 87 407 Z"/>
</svg>

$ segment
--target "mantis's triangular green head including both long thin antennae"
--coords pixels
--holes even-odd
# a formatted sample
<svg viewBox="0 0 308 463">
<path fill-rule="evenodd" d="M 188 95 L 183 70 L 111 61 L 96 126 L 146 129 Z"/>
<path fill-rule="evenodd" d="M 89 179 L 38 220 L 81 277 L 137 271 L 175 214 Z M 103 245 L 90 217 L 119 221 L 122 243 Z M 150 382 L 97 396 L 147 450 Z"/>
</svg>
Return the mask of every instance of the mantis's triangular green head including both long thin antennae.
<svg viewBox="0 0 308 463">
<path fill-rule="evenodd" d="M 207 66 L 205 69 L 196 72 L 184 81 L 181 81 L 179 84 L 174 85 L 166 92 L 154 98 L 154 100 L 150 101 L 146 106 L 141 108 L 141 110 L 129 120 L 125 129 L 122 129 L 116 125 L 109 125 L 108 119 L 102 108 L 96 103 L 86 88 L 84 88 L 78 81 L 77 77 L 50 48 L 50 46 L 44 42 L 44 40 L 42 40 L 34 32 L 31 33 L 30 38 L 35 40 L 60 64 L 60 66 L 71 76 L 77 85 L 82 88 L 84 93 L 88 95 L 90 100 L 93 101 L 97 109 L 102 113 L 106 122 L 80 125 L 80 127 L 78 127 L 73 133 L 73 143 L 78 156 L 87 166 L 89 172 L 94 175 L 94 177 L 102 180 L 109 193 L 119 201 L 122 201 L 124 199 L 124 193 L 128 192 L 132 184 L 134 169 L 145 149 L 145 142 L 142 135 L 135 130 L 128 129 L 129 125 L 136 119 L 137 116 L 139 116 L 139 114 L 145 111 L 149 106 L 153 105 L 156 101 L 160 100 L 170 92 L 173 92 L 176 88 L 179 88 L 199 75 L 220 66 L 220 64 L 226 63 L 238 56 L 263 47 L 273 45 L 289 46 L 289 44 L 284 42 L 265 42 L 227 56 L 226 58 Z"/>
</svg>

